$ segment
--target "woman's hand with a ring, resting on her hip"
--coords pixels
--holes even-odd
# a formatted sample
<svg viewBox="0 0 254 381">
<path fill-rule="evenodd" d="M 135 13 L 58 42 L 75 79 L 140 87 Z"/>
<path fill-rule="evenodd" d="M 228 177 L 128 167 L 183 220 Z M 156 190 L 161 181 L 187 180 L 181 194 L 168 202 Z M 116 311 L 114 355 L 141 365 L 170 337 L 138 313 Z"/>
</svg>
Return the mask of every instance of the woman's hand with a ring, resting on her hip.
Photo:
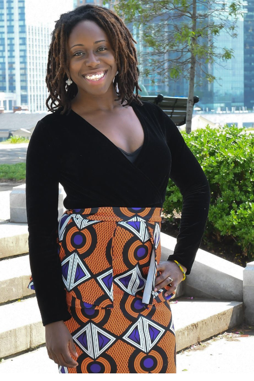
<svg viewBox="0 0 254 381">
<path fill-rule="evenodd" d="M 184 272 L 186 271 L 186 267 L 179 264 Z M 173 291 L 176 290 L 177 285 L 183 280 L 182 271 L 179 269 L 177 264 L 174 261 L 163 261 L 157 265 L 157 271 L 160 271 L 160 275 L 155 279 L 155 288 L 154 291 L 160 290 L 169 283 L 171 287 L 165 293 L 165 296 L 172 294 Z M 171 282 L 168 277 L 171 277 L 173 281 Z"/>
</svg>

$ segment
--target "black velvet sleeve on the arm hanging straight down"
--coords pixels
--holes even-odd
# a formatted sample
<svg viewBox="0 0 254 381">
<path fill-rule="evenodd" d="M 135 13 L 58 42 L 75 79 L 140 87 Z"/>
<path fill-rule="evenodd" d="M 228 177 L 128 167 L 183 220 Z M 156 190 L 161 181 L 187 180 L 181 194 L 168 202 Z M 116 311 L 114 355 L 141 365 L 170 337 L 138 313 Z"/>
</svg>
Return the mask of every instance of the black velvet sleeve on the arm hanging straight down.
<svg viewBox="0 0 254 381">
<path fill-rule="evenodd" d="M 49 127 L 37 123 L 26 154 L 29 262 L 43 326 L 71 318 L 57 253 L 57 148 Z"/>
</svg>

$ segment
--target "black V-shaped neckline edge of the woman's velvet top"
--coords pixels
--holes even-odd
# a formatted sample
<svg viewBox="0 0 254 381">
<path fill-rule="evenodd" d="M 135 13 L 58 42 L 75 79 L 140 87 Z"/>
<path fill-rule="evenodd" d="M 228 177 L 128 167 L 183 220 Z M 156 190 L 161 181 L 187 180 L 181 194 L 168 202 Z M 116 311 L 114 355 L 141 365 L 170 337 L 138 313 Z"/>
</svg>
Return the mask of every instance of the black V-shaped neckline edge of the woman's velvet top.
<svg viewBox="0 0 254 381">
<path fill-rule="evenodd" d="M 137 161 L 139 160 L 140 156 L 143 154 L 144 152 L 144 149 L 146 147 L 146 144 L 147 144 L 147 141 L 148 141 L 148 129 L 147 129 L 147 126 L 146 126 L 146 123 L 142 117 L 142 115 L 139 113 L 139 110 L 138 108 L 136 108 L 136 105 L 135 105 L 135 102 L 132 101 L 131 104 L 129 105 L 132 107 L 133 111 L 135 112 L 137 118 L 139 119 L 140 121 L 140 124 L 142 126 L 142 129 L 143 129 L 143 132 L 144 132 L 144 140 L 143 140 L 143 143 L 142 145 L 139 147 L 141 148 L 140 151 L 139 151 L 139 154 L 138 156 L 136 157 L 135 161 L 132 163 L 128 157 L 126 157 L 122 152 L 121 150 L 119 149 L 119 147 L 117 147 L 117 145 L 115 145 L 106 135 L 104 135 L 100 130 L 98 130 L 96 127 L 94 127 L 91 123 L 89 123 L 85 118 L 83 118 L 81 115 L 79 115 L 78 113 L 76 113 L 74 110 L 71 109 L 71 113 L 77 115 L 77 117 L 80 119 L 82 119 L 83 122 L 87 123 L 90 128 L 92 128 L 93 131 L 95 131 L 96 133 L 98 133 L 100 136 L 102 136 L 103 139 L 105 139 L 111 146 L 113 146 L 118 152 L 119 154 L 124 157 L 124 159 L 126 161 L 128 161 L 129 163 L 131 163 L 132 165 L 135 165 L 136 166 L 136 163 Z M 144 106 L 142 106 L 144 107 Z M 138 148 L 138 149 L 139 149 Z M 137 151 L 137 150 L 136 150 Z M 136 152 L 135 151 L 135 152 Z"/>
</svg>

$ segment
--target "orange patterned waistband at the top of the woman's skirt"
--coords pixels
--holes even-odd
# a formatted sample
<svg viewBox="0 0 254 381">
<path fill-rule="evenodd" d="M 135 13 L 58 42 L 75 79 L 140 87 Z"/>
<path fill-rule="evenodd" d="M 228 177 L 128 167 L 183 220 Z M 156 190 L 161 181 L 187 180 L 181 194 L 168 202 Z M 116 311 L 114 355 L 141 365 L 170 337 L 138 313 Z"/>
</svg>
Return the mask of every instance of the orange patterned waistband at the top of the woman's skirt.
<svg viewBox="0 0 254 381">
<path fill-rule="evenodd" d="M 120 206 L 102 206 L 96 208 L 67 209 L 63 214 L 80 214 L 86 219 L 101 221 L 126 221 L 140 217 L 147 222 L 160 222 L 163 208 L 128 208 Z"/>
</svg>

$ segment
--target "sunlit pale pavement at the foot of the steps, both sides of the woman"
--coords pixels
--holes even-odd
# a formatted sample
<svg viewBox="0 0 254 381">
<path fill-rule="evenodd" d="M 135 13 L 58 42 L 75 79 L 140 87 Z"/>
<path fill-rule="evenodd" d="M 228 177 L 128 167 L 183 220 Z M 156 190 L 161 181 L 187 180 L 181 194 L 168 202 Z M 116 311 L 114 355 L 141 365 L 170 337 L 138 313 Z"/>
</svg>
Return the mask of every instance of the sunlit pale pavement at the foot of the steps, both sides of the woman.
<svg viewBox="0 0 254 381">
<path fill-rule="evenodd" d="M 249 335 L 243 337 L 239 332 L 242 327 L 228 333 L 215 336 L 213 339 L 202 341 L 176 355 L 176 372 L 208 375 L 220 374 L 252 374 L 253 373 L 253 346 L 254 329 L 248 327 L 242 332 Z M 254 327 L 253 327 L 254 328 Z M 241 332 L 241 331 L 240 331 Z M 0 359 L 1 361 L 1 359 Z M 56 374 L 58 366 L 50 360 L 46 345 L 43 344 L 35 351 L 10 356 L 0 363 L 0 375 L 25 374 Z"/>
</svg>

